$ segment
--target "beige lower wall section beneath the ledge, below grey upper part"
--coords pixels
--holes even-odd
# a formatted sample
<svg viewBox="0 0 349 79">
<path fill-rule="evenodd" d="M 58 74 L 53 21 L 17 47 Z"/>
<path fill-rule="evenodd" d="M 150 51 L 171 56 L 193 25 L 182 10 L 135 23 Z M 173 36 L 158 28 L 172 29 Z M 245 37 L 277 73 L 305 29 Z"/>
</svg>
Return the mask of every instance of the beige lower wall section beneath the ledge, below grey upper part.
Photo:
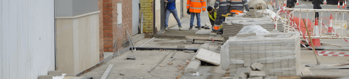
<svg viewBox="0 0 349 79">
<path fill-rule="evenodd" d="M 99 62 L 98 13 L 56 19 L 56 27 L 58 70 L 76 75 Z"/>
</svg>

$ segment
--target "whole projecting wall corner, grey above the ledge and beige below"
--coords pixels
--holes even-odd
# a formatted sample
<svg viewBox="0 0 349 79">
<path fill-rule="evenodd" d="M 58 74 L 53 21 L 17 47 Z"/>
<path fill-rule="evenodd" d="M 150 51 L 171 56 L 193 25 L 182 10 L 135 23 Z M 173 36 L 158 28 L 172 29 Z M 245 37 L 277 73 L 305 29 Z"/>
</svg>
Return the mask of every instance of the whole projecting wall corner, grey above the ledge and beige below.
<svg viewBox="0 0 349 79">
<path fill-rule="evenodd" d="M 57 3 L 59 2 L 59 3 Z M 72 7 L 64 6 L 72 4 Z M 56 1 L 57 70 L 76 75 L 103 59 L 100 57 L 101 20 L 95 0 Z M 71 10 L 71 11 L 70 11 Z"/>
</svg>

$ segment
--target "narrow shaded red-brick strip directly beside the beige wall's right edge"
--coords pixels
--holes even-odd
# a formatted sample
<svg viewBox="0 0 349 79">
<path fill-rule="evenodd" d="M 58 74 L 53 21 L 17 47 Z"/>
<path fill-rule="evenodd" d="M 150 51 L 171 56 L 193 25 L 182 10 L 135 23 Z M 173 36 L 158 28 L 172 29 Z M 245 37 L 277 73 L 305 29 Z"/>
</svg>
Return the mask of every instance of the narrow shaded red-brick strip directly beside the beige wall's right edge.
<svg viewBox="0 0 349 79">
<path fill-rule="evenodd" d="M 104 60 L 103 56 L 103 1 L 98 0 L 98 11 L 99 13 L 99 61 Z"/>
</svg>

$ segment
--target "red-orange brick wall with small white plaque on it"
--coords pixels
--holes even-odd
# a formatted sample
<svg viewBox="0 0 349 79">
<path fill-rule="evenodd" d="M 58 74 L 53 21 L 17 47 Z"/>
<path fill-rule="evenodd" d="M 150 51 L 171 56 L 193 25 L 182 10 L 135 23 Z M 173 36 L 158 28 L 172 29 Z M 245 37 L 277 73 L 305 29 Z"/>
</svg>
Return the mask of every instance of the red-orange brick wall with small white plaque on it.
<svg viewBox="0 0 349 79">
<path fill-rule="evenodd" d="M 122 3 L 122 13 L 117 13 L 117 3 Z M 122 20 L 117 20 L 117 15 Z M 122 21 L 121 24 L 117 24 Z M 129 47 L 126 30 L 132 36 L 132 0 L 103 0 L 104 52 L 119 52 Z"/>
</svg>

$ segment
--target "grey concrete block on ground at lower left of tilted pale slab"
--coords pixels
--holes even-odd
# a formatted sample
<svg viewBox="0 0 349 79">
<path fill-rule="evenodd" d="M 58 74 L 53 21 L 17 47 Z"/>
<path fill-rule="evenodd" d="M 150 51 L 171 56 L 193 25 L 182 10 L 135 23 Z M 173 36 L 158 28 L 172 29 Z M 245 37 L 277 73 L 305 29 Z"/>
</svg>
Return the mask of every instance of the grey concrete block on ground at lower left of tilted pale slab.
<svg viewBox="0 0 349 79">
<path fill-rule="evenodd" d="M 184 69 L 184 73 L 197 73 L 200 65 L 200 60 L 191 60 L 187 67 Z"/>
</svg>

